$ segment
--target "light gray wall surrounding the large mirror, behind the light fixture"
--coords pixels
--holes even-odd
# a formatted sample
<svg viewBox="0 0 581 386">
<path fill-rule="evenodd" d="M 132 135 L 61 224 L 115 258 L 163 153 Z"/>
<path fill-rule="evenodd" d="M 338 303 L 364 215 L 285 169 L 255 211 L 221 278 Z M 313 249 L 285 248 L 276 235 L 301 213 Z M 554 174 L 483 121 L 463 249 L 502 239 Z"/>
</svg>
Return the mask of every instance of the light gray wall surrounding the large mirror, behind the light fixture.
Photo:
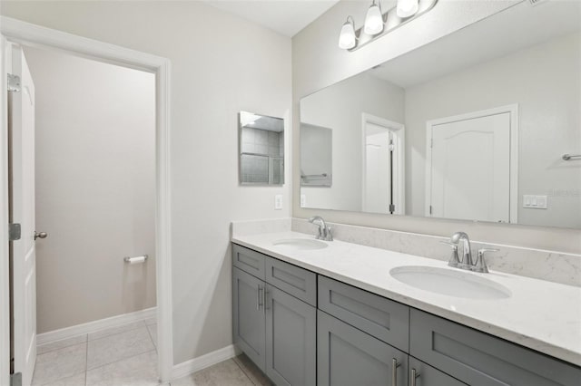
<svg viewBox="0 0 581 386">
<path fill-rule="evenodd" d="M 581 252 L 581 231 L 551 227 L 485 224 L 467 221 L 389 217 L 357 212 L 305 209 L 300 207 L 299 165 L 299 101 L 333 83 L 340 82 L 379 63 L 407 53 L 421 45 L 451 34 L 491 14 L 515 5 L 515 1 L 448 1 L 439 2 L 432 11 L 418 20 L 381 37 L 356 52 L 337 46 L 338 26 L 348 14 L 356 18 L 356 27 L 363 21 L 369 4 L 340 1 L 292 38 L 293 92 L 293 201 L 294 217 L 322 215 L 330 221 L 368 227 L 382 227 L 428 235 L 448 236 L 458 229 L 480 241 L 515 246 L 537 247 L 563 252 Z M 316 60 L 315 60 L 316 58 Z"/>
</svg>

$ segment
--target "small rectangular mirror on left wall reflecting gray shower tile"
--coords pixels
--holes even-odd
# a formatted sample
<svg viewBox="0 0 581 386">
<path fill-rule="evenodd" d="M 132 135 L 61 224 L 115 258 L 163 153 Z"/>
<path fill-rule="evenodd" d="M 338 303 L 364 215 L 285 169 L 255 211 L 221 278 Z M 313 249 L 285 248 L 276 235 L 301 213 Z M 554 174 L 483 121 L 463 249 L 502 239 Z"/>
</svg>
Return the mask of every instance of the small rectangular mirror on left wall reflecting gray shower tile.
<svg viewBox="0 0 581 386">
<path fill-rule="evenodd" d="M 284 184 L 284 120 L 240 111 L 238 126 L 240 183 Z"/>
</svg>

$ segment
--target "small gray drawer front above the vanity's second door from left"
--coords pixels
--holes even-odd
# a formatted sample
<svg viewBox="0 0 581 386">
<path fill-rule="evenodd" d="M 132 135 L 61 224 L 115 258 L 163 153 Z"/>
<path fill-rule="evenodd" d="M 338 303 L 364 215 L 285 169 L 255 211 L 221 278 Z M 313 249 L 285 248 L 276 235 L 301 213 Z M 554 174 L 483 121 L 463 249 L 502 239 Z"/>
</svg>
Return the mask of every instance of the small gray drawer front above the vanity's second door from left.
<svg viewBox="0 0 581 386">
<path fill-rule="evenodd" d="M 266 282 L 317 306 L 317 275 L 296 265 L 266 257 Z"/>
</svg>

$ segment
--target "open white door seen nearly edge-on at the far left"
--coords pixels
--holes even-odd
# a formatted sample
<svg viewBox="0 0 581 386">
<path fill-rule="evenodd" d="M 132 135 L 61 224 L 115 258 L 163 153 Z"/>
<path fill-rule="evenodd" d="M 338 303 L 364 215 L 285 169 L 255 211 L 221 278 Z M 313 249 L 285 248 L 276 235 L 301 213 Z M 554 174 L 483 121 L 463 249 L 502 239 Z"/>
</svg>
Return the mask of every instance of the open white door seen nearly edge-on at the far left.
<svg viewBox="0 0 581 386">
<path fill-rule="evenodd" d="M 22 227 L 22 238 L 11 243 L 14 360 L 15 372 L 22 372 L 23 385 L 29 385 L 36 362 L 34 83 L 22 47 L 15 44 L 10 72 L 20 77 L 21 84 L 21 92 L 9 92 L 8 96 L 11 222 L 20 223 Z"/>
</svg>

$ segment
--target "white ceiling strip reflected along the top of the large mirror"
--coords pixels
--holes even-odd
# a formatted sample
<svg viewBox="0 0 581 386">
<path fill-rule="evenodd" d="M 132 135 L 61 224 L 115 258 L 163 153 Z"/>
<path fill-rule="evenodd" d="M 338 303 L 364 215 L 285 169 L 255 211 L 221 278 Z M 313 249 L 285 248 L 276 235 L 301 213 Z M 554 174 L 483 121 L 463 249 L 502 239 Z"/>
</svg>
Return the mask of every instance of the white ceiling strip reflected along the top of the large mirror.
<svg viewBox="0 0 581 386">
<path fill-rule="evenodd" d="M 579 32 L 581 2 L 519 3 L 387 63 L 370 73 L 400 87 L 428 82 L 564 34 Z"/>
</svg>

